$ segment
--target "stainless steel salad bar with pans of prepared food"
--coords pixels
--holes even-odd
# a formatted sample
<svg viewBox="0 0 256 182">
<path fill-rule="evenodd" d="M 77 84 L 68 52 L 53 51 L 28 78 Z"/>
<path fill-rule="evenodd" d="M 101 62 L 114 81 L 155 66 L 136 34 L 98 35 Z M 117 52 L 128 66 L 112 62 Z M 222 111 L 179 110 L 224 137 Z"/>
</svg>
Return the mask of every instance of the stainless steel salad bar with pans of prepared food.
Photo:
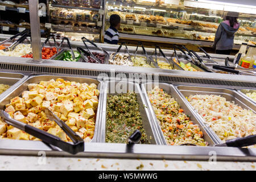
<svg viewBox="0 0 256 182">
<path fill-rule="evenodd" d="M 5 74 L 20 76 L 9 92 L 0 95 L 0 109 L 9 114 L 1 115 L 0 154 L 37 155 L 43 150 L 50 156 L 71 156 L 6 123 L 15 119 L 71 142 L 48 118 L 47 107 L 84 141 L 76 156 L 209 160 L 209 152 L 214 151 L 217 160 L 256 160 L 250 142 L 230 144 L 230 139 L 255 135 L 256 105 L 242 94 L 244 89 L 256 90 L 254 76 L 208 72 L 203 63 L 179 51 L 173 56 L 174 52 L 163 49 L 163 56 L 151 48 L 145 48 L 145 54 L 131 46 L 118 50 L 118 46 L 97 44 L 98 49 L 86 44 L 87 48 L 83 43 L 71 42 L 71 48 L 63 44 L 56 48 L 59 53 L 40 64 L 28 63 L 28 57 L 3 57 L 0 67 L 10 72 Z M 48 43 L 47 47 L 55 46 Z M 118 55 L 126 56 L 115 60 L 125 65 L 111 64 Z M 105 64 L 89 63 L 87 56 L 96 62 L 104 58 Z M 225 57 L 211 56 L 225 64 Z M 175 59 L 187 67 L 198 62 L 195 66 L 202 71 L 184 71 Z M 167 65 L 161 68 L 162 63 Z M 212 68 L 212 64 L 204 65 Z M 137 130 L 141 132 L 138 143 L 127 144 Z"/>
</svg>

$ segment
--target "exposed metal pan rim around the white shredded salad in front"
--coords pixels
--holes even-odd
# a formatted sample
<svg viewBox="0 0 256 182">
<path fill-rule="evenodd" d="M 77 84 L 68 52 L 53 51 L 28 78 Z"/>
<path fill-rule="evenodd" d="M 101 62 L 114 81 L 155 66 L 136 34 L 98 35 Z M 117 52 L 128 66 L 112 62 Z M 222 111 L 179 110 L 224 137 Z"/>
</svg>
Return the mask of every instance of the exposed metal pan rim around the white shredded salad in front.
<svg viewBox="0 0 256 182">
<path fill-rule="evenodd" d="M 223 143 L 220 138 L 214 133 L 212 129 L 207 125 L 203 117 L 196 111 L 196 109 L 189 104 L 185 97 L 189 97 L 195 94 L 206 94 L 206 95 L 216 95 L 225 97 L 227 101 L 234 101 L 234 104 L 241 106 L 243 109 L 252 110 L 255 113 L 256 107 L 250 100 L 247 100 L 245 97 L 241 96 L 241 94 L 237 93 L 235 90 L 232 89 L 225 89 L 225 88 L 210 88 L 210 87 L 201 87 L 201 86 L 185 86 L 185 85 L 177 85 L 176 86 L 178 92 L 180 93 L 181 97 L 187 104 L 191 107 L 191 109 L 197 114 L 197 117 L 204 123 L 205 127 L 208 127 L 208 130 L 212 133 L 213 137 L 218 140 L 218 143 Z"/>
</svg>

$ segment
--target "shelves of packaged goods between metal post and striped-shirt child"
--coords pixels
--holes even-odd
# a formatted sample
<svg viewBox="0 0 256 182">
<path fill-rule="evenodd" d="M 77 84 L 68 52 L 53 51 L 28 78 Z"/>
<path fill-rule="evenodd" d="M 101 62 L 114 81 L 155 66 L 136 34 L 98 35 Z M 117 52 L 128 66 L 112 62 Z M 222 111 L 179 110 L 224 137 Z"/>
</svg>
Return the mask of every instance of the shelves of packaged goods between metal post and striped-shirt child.
<svg viewBox="0 0 256 182">
<path fill-rule="evenodd" d="M 49 19 L 51 32 L 56 36 L 66 36 L 71 40 L 79 40 L 85 34 L 90 40 L 100 41 L 103 9 L 101 0 L 57 0 L 51 1 Z M 103 11 L 103 10 L 102 10 Z"/>
</svg>

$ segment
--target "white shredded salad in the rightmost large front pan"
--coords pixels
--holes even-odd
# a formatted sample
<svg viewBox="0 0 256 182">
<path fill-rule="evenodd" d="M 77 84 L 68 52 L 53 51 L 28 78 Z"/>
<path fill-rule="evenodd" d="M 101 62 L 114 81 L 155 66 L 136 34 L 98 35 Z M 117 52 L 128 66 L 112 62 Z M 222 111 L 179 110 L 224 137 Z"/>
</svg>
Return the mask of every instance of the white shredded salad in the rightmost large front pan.
<svg viewBox="0 0 256 182">
<path fill-rule="evenodd" d="M 187 99 L 222 141 L 256 134 L 256 114 L 252 110 L 221 96 L 194 95 Z"/>
</svg>

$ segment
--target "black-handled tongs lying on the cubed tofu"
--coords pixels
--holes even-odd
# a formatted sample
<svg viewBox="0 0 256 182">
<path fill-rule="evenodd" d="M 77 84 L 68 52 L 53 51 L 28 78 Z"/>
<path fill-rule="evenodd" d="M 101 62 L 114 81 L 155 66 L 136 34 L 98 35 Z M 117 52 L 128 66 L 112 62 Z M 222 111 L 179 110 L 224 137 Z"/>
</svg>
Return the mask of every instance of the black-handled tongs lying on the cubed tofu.
<svg viewBox="0 0 256 182">
<path fill-rule="evenodd" d="M 8 113 L 3 110 L 0 110 L 0 116 L 5 119 L 5 122 L 8 125 L 14 126 L 26 133 L 43 140 L 43 142 L 52 144 L 53 146 L 61 148 L 63 151 L 69 152 L 70 154 L 77 154 L 78 152 L 84 151 L 84 140 L 79 137 L 68 125 L 66 125 L 61 119 L 59 119 L 51 110 L 48 108 L 44 110 L 47 117 L 51 121 L 55 121 L 57 125 L 68 135 L 69 138 L 73 141 L 73 143 L 64 142 L 59 137 L 47 133 L 46 131 L 37 129 L 36 127 L 27 125 L 26 123 L 17 121 L 10 117 Z"/>
</svg>

